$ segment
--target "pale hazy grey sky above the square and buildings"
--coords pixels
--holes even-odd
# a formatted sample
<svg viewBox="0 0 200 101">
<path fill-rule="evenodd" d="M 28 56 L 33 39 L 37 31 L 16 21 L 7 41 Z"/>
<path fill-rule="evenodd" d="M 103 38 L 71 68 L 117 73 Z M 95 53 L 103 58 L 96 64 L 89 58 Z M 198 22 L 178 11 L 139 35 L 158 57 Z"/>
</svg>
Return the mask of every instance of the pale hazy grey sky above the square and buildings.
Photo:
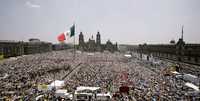
<svg viewBox="0 0 200 101">
<path fill-rule="evenodd" d="M 102 41 L 200 43 L 200 0 L 0 0 L 0 39 L 57 43 L 75 22 L 76 39 L 100 31 Z M 66 41 L 66 42 L 70 42 Z"/>
</svg>

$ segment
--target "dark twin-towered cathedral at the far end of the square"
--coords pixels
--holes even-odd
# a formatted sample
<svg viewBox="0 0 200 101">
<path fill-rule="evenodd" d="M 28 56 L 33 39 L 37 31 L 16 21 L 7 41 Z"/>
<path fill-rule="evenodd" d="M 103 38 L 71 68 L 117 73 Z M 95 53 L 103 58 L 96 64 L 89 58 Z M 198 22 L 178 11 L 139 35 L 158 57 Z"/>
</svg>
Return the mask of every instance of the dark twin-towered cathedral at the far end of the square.
<svg viewBox="0 0 200 101">
<path fill-rule="evenodd" d="M 89 38 L 87 42 L 84 41 L 84 35 L 82 32 L 79 34 L 79 50 L 88 51 L 88 52 L 103 52 L 105 50 L 114 52 L 118 50 L 117 43 L 113 44 L 110 40 L 106 42 L 106 44 L 101 43 L 101 35 L 97 32 L 96 40 Z"/>
</svg>

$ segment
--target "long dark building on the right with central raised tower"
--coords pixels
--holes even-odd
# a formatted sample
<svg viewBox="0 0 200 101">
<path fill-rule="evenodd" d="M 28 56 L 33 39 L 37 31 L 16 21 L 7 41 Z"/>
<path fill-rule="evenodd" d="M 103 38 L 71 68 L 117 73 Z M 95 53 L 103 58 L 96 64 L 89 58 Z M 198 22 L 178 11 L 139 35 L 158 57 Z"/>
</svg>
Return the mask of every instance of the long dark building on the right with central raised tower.
<svg viewBox="0 0 200 101">
<path fill-rule="evenodd" d="M 176 44 L 143 44 L 133 50 L 149 56 L 200 65 L 200 44 L 185 43 L 183 37 Z"/>
</svg>

